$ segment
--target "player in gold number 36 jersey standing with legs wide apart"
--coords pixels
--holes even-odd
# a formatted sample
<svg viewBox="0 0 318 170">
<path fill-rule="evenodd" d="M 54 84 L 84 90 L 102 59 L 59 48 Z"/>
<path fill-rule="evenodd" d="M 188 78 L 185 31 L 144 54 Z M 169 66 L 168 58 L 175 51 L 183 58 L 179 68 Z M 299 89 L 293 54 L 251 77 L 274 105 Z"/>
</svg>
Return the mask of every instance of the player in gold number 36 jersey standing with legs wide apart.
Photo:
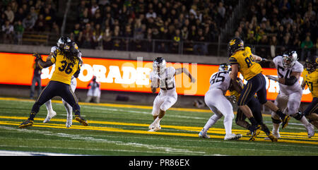
<svg viewBox="0 0 318 170">
<path fill-rule="evenodd" d="M 43 68 L 52 66 L 55 63 L 55 70 L 49 84 L 42 90 L 37 101 L 33 104 L 30 117 L 23 121 L 18 126 L 19 128 L 33 126 L 35 115 L 39 112 L 42 104 L 45 104 L 45 102 L 55 96 L 61 97 L 71 105 L 76 121 L 79 121 L 83 126 L 88 126 L 88 122 L 81 117 L 78 100 L 70 88 L 72 75 L 77 78 L 81 70 L 81 59 L 77 55 L 79 51 L 76 49 L 75 42 L 71 42 L 69 37 L 66 36 L 62 36 L 59 39 L 57 47 L 58 49 L 52 55 L 49 55 L 47 61 L 42 61 L 40 54 L 33 54 Z"/>
</svg>

